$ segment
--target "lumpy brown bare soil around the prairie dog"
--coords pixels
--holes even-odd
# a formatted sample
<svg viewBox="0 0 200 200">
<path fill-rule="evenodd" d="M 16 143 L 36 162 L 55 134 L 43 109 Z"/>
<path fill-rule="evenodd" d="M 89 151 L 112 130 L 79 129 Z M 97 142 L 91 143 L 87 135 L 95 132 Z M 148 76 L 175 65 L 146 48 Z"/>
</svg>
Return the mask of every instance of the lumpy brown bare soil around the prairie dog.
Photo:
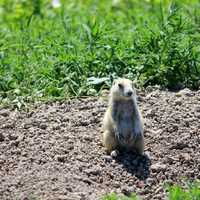
<svg viewBox="0 0 200 200">
<path fill-rule="evenodd" d="M 165 184 L 200 178 L 200 91 L 138 93 L 145 155 L 106 155 L 107 102 L 55 102 L 0 110 L 0 199 L 96 200 L 115 191 L 164 199 Z"/>
</svg>

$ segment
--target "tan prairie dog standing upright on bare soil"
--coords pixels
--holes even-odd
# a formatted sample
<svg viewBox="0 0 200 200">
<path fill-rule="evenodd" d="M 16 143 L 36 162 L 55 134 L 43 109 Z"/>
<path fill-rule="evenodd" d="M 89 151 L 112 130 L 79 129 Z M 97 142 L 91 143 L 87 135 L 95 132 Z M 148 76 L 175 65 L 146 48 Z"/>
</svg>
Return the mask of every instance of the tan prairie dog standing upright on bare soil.
<svg viewBox="0 0 200 200">
<path fill-rule="evenodd" d="M 103 119 L 103 145 L 116 150 L 144 151 L 143 120 L 132 81 L 117 79 L 110 90 L 109 106 Z"/>
</svg>

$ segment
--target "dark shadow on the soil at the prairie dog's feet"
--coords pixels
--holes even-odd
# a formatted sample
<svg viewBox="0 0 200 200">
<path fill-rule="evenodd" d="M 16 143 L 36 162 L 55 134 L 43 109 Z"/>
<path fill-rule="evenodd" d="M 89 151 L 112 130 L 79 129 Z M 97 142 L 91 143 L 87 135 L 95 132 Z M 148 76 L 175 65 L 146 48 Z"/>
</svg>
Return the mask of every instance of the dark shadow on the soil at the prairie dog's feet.
<svg viewBox="0 0 200 200">
<path fill-rule="evenodd" d="M 148 155 L 139 156 L 133 153 L 123 152 L 117 156 L 116 161 L 123 165 L 124 169 L 140 180 L 150 176 L 151 160 Z"/>
</svg>

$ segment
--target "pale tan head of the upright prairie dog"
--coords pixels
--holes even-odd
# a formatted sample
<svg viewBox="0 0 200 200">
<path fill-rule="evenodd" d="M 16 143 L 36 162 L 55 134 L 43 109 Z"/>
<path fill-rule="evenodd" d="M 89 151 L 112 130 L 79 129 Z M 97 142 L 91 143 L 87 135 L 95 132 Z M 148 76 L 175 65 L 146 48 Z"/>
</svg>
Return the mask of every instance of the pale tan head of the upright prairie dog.
<svg viewBox="0 0 200 200">
<path fill-rule="evenodd" d="M 110 95 L 113 99 L 132 99 L 135 97 L 132 81 L 124 78 L 114 80 Z"/>
</svg>

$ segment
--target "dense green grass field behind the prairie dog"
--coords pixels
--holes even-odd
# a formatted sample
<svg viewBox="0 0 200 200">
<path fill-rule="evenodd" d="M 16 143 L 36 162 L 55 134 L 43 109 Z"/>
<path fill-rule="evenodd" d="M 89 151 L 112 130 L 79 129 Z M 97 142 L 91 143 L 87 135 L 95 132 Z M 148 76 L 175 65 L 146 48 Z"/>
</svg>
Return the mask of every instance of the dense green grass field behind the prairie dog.
<svg viewBox="0 0 200 200">
<path fill-rule="evenodd" d="M 0 101 L 98 95 L 116 77 L 200 85 L 200 3 L 0 1 Z"/>
</svg>

